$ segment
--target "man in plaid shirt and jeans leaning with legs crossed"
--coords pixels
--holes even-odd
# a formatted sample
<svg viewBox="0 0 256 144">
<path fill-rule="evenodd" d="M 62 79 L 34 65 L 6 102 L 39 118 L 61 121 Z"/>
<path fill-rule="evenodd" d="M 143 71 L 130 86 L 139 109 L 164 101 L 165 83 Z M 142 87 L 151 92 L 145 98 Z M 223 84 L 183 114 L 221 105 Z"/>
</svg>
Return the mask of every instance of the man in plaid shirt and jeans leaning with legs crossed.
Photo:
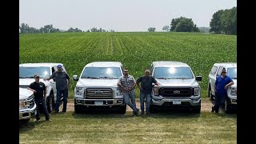
<svg viewBox="0 0 256 144">
<path fill-rule="evenodd" d="M 123 98 L 125 103 L 130 106 L 133 111 L 133 115 L 138 115 L 138 109 L 135 102 L 135 91 L 136 81 L 133 76 L 128 73 L 128 69 L 124 70 L 124 75 L 118 79 L 118 86 L 122 90 Z M 131 102 L 130 102 L 131 100 Z"/>
</svg>

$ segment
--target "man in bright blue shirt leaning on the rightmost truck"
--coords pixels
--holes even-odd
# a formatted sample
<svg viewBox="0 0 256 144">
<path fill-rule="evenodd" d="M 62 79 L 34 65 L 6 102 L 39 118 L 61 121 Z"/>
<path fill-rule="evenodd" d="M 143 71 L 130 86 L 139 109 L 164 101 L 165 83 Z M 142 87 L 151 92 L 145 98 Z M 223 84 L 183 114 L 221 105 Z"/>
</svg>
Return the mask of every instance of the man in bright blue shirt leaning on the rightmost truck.
<svg viewBox="0 0 256 144">
<path fill-rule="evenodd" d="M 212 106 L 211 112 L 215 111 L 215 113 L 218 113 L 219 106 L 222 106 L 225 102 L 227 88 L 233 84 L 233 80 L 226 75 L 226 69 L 223 68 L 222 74 L 215 81 L 215 105 Z"/>
</svg>

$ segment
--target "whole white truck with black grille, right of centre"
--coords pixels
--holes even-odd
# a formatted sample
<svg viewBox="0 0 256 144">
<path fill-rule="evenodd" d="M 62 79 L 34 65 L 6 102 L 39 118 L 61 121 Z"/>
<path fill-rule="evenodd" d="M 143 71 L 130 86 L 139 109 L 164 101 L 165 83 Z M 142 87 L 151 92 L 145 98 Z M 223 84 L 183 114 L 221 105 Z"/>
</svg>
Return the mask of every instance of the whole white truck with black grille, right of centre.
<svg viewBox="0 0 256 144">
<path fill-rule="evenodd" d="M 151 112 L 158 107 L 190 107 L 195 113 L 201 111 L 201 87 L 198 82 L 202 76 L 194 74 L 183 62 L 152 62 L 152 76 L 160 83 L 154 86 L 151 98 Z"/>
</svg>

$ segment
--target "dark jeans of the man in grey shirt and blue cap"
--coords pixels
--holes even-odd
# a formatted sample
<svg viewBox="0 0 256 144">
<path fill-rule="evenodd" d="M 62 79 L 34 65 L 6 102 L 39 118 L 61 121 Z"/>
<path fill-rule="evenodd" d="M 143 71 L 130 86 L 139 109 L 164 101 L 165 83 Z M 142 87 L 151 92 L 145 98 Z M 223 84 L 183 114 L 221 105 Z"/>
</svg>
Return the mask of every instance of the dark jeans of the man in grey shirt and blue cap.
<svg viewBox="0 0 256 144">
<path fill-rule="evenodd" d="M 62 94 L 63 94 L 63 109 L 62 109 L 62 111 L 66 111 L 68 89 L 57 90 L 57 100 L 56 100 L 56 106 L 55 106 L 55 111 L 56 112 L 58 112 L 58 107 L 59 107 L 59 105 L 61 103 Z"/>
</svg>

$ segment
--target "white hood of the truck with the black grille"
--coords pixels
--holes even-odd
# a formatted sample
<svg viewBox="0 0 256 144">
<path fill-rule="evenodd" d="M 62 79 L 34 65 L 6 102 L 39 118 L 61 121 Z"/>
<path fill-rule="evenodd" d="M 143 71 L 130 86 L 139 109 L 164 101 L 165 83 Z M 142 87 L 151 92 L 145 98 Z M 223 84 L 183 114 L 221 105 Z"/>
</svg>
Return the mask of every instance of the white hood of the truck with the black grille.
<svg viewBox="0 0 256 144">
<path fill-rule="evenodd" d="M 199 86 L 195 79 L 159 79 L 160 86 Z"/>
</svg>

